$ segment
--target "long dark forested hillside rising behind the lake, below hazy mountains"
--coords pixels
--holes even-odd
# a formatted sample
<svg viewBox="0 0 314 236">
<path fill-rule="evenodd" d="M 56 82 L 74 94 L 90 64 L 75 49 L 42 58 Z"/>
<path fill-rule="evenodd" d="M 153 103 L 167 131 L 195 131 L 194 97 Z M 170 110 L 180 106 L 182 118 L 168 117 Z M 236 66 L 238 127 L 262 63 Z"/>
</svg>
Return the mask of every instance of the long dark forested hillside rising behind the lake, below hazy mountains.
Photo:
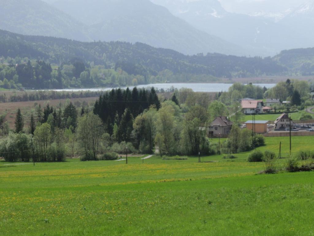
<svg viewBox="0 0 314 236">
<path fill-rule="evenodd" d="M 208 82 L 217 77 L 279 75 L 287 71 L 286 67 L 278 65 L 271 58 L 247 58 L 217 53 L 187 56 L 143 43 L 78 42 L 54 37 L 23 36 L 8 31 L 0 31 L 0 56 L 3 57 L 2 61 L 14 65 L 24 62 L 23 66 L 16 68 L 27 67 L 29 59 L 35 60 L 33 68 L 38 64 L 36 60 L 55 65 L 50 68 L 51 77 L 36 77 L 38 80 L 41 76 L 43 81 L 37 81 L 35 86 L 50 88 L 122 86 L 158 81 Z M 62 79 L 57 78 L 57 69 L 60 73 L 63 70 Z M 85 73 L 81 77 L 82 72 Z M 30 78 L 26 79 L 30 81 Z M 48 80 L 50 82 L 44 83 Z M 62 81 L 62 86 L 57 81 Z M 16 82 L 27 87 L 31 84 L 25 84 L 26 81 L 21 77 Z"/>
</svg>

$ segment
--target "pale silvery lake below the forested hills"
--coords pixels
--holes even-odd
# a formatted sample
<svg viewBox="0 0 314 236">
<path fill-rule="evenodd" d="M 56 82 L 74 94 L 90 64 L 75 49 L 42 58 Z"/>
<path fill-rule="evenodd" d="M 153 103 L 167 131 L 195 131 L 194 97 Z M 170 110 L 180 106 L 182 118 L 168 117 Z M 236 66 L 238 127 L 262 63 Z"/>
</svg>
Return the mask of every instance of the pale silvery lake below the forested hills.
<svg viewBox="0 0 314 236">
<path fill-rule="evenodd" d="M 254 84 L 261 87 L 272 88 L 276 84 Z M 228 91 L 232 84 L 223 84 L 223 83 L 162 83 L 162 84 L 144 84 L 138 85 L 138 88 L 149 88 L 154 87 L 158 90 L 164 89 L 169 90 L 172 87 L 180 88 L 191 88 L 194 92 L 221 92 Z M 133 89 L 134 86 L 129 86 L 130 89 Z M 127 88 L 127 87 L 121 87 Z M 78 88 L 78 89 L 52 89 L 54 91 L 68 91 L 68 92 L 78 92 L 78 91 L 107 91 L 111 90 L 112 87 L 103 87 L 103 88 Z"/>
</svg>

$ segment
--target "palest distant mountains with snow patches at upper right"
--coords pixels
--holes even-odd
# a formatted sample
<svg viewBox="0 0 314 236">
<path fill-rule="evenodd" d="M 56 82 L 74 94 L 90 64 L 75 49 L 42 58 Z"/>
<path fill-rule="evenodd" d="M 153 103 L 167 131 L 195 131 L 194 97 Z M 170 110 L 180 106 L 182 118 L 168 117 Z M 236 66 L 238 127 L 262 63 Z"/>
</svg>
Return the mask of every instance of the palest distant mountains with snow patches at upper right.
<svg viewBox="0 0 314 236">
<path fill-rule="evenodd" d="M 251 55 L 275 55 L 290 48 L 313 47 L 314 1 L 288 9 L 276 18 L 235 14 L 218 0 L 151 0 L 195 28 L 246 48 Z"/>
</svg>

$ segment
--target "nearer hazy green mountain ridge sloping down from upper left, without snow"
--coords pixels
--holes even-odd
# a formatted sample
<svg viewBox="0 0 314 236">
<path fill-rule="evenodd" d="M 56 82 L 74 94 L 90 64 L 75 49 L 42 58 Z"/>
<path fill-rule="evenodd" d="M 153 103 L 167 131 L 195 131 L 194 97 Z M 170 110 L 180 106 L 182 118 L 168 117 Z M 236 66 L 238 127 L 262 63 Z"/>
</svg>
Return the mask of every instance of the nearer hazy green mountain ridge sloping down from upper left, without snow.
<svg viewBox="0 0 314 236">
<path fill-rule="evenodd" d="M 210 35 L 149 0 L 3 0 L 0 29 L 79 41 L 143 42 L 184 54 L 245 55 L 245 49 Z M 36 26 L 36 27 L 34 27 Z"/>
</svg>

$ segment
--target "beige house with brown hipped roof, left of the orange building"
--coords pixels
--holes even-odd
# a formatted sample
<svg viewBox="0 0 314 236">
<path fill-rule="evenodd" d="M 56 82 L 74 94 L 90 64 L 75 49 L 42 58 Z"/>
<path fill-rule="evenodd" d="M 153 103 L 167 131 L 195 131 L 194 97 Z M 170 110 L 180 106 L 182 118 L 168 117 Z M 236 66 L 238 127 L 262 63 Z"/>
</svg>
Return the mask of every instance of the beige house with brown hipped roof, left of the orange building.
<svg viewBox="0 0 314 236">
<path fill-rule="evenodd" d="M 229 121 L 226 116 L 216 117 L 215 120 L 210 123 L 209 135 L 219 137 L 220 134 L 221 137 L 224 137 L 230 133 L 232 124 L 232 121 Z"/>
</svg>

